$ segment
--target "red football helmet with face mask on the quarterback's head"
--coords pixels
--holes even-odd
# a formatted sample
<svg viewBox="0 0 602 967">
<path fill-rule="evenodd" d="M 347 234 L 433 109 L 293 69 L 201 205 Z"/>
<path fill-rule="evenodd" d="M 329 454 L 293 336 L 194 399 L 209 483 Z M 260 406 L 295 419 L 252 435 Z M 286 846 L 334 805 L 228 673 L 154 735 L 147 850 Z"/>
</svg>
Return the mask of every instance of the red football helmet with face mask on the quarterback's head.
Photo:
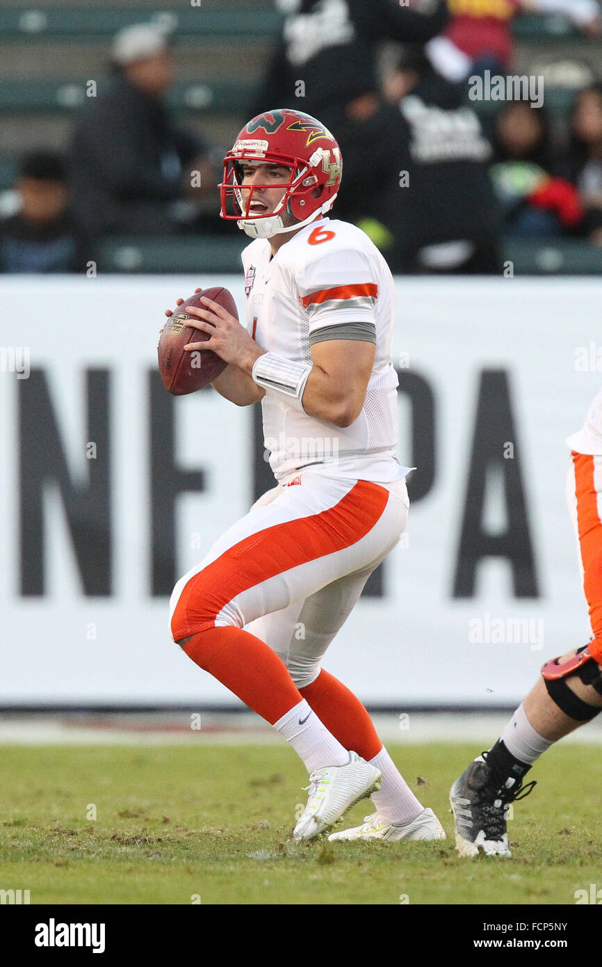
<svg viewBox="0 0 602 967">
<path fill-rule="evenodd" d="M 253 192 L 273 185 L 253 185 L 241 190 L 242 161 L 264 161 L 291 169 L 282 186 L 281 200 L 273 212 L 249 215 Z M 290 108 L 266 111 L 249 121 L 234 147 L 223 160 L 223 181 L 219 186 L 222 219 L 238 221 L 252 238 L 271 238 L 296 231 L 326 215 L 339 190 L 343 172 L 341 150 L 324 125 L 309 114 Z M 281 215 L 287 212 L 298 221 L 285 228 Z"/>
</svg>

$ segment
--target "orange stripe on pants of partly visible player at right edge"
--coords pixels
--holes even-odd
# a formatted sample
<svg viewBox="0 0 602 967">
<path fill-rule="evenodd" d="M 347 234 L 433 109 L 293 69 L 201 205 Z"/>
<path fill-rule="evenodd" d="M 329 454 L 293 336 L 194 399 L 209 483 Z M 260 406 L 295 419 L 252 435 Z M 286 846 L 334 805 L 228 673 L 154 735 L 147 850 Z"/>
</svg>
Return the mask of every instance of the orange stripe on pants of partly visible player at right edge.
<svg viewBox="0 0 602 967">
<path fill-rule="evenodd" d="M 584 591 L 594 635 L 588 648 L 594 659 L 602 662 L 602 520 L 594 481 L 595 463 L 594 457 L 588 454 L 577 454 L 573 451 L 572 457 L 575 466 L 577 526 L 584 566 Z"/>
</svg>

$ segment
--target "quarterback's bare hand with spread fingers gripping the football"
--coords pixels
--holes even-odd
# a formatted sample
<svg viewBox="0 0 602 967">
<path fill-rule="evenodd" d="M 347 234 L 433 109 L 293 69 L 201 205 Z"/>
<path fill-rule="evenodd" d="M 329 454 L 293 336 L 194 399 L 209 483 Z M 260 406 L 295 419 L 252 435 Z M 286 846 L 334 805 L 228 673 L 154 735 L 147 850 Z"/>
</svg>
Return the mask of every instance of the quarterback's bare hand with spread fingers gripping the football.
<svg viewBox="0 0 602 967">
<path fill-rule="evenodd" d="M 194 291 L 197 293 L 201 289 Z M 184 299 L 178 299 L 177 305 L 181 306 L 183 302 Z M 210 338 L 205 342 L 188 342 L 184 348 L 188 352 L 211 349 L 225 363 L 233 363 L 250 375 L 255 360 L 259 356 L 263 356 L 265 349 L 261 349 L 257 345 L 239 320 L 230 315 L 225 308 L 204 296 L 202 302 L 205 303 L 207 308 L 188 306 L 186 311 L 189 315 L 194 315 L 198 319 L 198 322 L 194 323 L 195 328 L 204 330 L 210 335 Z M 171 309 L 165 310 L 165 315 L 170 316 L 171 314 Z"/>
</svg>

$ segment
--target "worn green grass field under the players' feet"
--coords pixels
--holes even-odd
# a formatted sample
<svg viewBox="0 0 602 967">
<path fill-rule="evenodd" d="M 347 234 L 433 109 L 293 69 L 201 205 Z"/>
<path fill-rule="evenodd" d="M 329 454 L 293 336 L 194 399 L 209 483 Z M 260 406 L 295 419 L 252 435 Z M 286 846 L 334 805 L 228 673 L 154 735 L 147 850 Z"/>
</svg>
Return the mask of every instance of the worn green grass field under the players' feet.
<svg viewBox="0 0 602 967">
<path fill-rule="evenodd" d="M 509 823 L 513 860 L 466 861 L 447 793 L 479 750 L 389 747 L 444 842 L 298 844 L 307 780 L 288 747 L 0 747 L 0 889 L 32 904 L 574 904 L 602 886 L 597 747 L 534 767 Z M 355 806 L 349 825 L 369 811 Z"/>
</svg>

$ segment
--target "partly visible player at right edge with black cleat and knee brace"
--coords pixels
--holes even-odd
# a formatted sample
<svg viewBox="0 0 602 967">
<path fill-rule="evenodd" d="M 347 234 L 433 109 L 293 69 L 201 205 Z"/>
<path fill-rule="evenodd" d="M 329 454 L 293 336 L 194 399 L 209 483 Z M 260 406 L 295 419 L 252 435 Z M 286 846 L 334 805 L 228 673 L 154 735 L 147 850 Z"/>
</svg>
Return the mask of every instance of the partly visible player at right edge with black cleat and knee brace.
<svg viewBox="0 0 602 967">
<path fill-rule="evenodd" d="M 462 856 L 511 856 L 506 833 L 510 803 L 529 795 L 522 785 L 533 762 L 562 736 L 602 712 L 602 391 L 583 429 L 568 437 L 567 500 L 581 548 L 589 607 L 588 645 L 548 661 L 502 737 L 451 787 L 456 848 Z"/>
</svg>

